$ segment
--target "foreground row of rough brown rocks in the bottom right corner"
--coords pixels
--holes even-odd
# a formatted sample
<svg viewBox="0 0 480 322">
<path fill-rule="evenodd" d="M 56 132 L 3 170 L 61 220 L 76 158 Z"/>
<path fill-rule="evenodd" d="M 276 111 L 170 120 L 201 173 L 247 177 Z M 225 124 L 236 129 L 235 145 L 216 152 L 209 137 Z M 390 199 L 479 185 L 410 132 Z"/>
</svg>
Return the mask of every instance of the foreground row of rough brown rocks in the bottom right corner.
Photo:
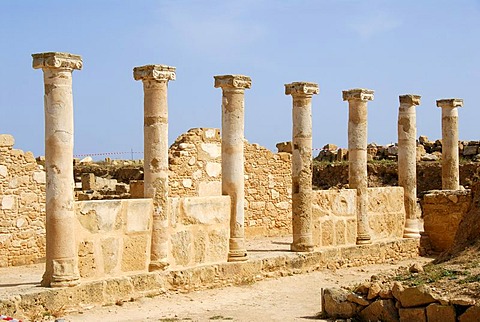
<svg viewBox="0 0 480 322">
<path fill-rule="evenodd" d="M 404 287 L 400 282 L 365 282 L 353 292 L 322 290 L 325 317 L 361 321 L 479 321 L 478 304 L 471 298 L 443 298 L 425 285 Z"/>
</svg>

